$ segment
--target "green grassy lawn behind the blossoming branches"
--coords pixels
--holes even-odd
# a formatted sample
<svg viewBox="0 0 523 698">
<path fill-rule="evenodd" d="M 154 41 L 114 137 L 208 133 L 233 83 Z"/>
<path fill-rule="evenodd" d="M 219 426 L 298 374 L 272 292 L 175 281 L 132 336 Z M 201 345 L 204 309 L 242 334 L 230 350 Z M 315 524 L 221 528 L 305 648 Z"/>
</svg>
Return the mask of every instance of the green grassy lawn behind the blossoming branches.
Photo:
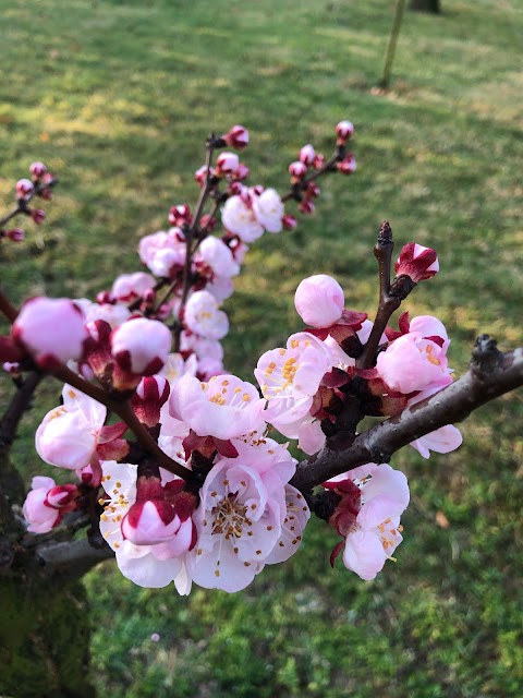
<svg viewBox="0 0 523 698">
<path fill-rule="evenodd" d="M 336 275 L 350 305 L 372 312 L 369 250 L 384 218 L 400 243 L 438 250 L 441 274 L 409 309 L 446 322 L 458 373 L 478 332 L 521 342 L 523 4 L 442 4 L 440 16 L 405 15 L 382 94 L 391 2 L 0 0 L 0 195 L 9 201 L 34 159 L 61 179 L 46 225 L 2 245 L 2 287 L 16 299 L 94 294 L 137 268 L 139 237 L 165 226 L 170 205 L 195 201 L 210 129 L 244 123 L 255 179 L 283 189 L 296 149 L 330 152 L 333 124 L 349 118 L 356 174 L 325 182 L 296 232 L 253 245 L 228 303 L 230 368 L 248 376 L 299 328 L 292 292 L 305 275 Z M 56 387 L 39 397 L 35 421 Z M 319 521 L 292 563 L 232 597 L 179 599 L 133 587 L 110 564 L 94 571 L 100 690 L 520 697 L 522 412 L 521 394 L 508 396 L 471 418 L 458 453 L 396 459 L 413 502 L 398 564 L 375 582 L 328 567 L 335 538 Z M 14 454 L 27 477 L 32 428 Z"/>
</svg>

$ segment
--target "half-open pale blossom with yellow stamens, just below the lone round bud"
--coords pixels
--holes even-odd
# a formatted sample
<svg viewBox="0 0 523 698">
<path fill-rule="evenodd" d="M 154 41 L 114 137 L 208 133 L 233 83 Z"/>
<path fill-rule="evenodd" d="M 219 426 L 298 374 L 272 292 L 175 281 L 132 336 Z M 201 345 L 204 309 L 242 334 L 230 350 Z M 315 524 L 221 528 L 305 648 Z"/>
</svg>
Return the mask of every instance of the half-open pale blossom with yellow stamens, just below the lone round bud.
<svg viewBox="0 0 523 698">
<path fill-rule="evenodd" d="M 305 332 L 291 335 L 285 349 L 266 351 L 254 371 L 268 400 L 265 419 L 280 429 L 305 417 L 331 365 L 329 348 Z"/>
</svg>

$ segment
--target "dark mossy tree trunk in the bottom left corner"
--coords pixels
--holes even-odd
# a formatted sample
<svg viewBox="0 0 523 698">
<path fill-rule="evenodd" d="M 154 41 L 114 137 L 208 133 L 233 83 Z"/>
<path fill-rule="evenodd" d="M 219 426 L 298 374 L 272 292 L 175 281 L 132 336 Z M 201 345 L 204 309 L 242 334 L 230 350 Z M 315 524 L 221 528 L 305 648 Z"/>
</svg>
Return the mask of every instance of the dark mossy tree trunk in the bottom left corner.
<svg viewBox="0 0 523 698">
<path fill-rule="evenodd" d="M 60 571 L 45 575 L 35 549 L 16 542 L 24 530 L 12 504 L 24 491 L 5 446 L 0 473 L 0 696 L 93 698 L 85 590 Z"/>
</svg>

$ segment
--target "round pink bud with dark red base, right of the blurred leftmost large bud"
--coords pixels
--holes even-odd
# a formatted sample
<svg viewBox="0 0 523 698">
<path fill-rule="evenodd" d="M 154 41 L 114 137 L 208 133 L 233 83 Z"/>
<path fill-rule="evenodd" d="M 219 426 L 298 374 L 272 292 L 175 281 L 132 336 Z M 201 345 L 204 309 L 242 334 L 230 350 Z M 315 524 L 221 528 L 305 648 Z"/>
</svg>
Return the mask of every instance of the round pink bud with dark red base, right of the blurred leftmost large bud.
<svg viewBox="0 0 523 698">
<path fill-rule="evenodd" d="M 157 320 L 133 317 L 111 335 L 111 351 L 125 371 L 153 375 L 167 361 L 172 345 L 168 327 Z"/>
</svg>

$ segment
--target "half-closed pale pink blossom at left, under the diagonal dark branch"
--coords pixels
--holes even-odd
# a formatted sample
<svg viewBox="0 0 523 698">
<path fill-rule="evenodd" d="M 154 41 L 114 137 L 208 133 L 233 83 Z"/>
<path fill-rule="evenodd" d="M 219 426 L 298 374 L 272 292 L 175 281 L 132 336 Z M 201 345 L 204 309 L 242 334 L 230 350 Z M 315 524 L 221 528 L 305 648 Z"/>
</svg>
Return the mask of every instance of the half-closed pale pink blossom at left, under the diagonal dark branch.
<svg viewBox="0 0 523 698">
<path fill-rule="evenodd" d="M 80 470 L 95 456 L 107 409 L 64 385 L 63 405 L 46 414 L 35 436 L 40 458 L 59 468 Z"/>
</svg>

